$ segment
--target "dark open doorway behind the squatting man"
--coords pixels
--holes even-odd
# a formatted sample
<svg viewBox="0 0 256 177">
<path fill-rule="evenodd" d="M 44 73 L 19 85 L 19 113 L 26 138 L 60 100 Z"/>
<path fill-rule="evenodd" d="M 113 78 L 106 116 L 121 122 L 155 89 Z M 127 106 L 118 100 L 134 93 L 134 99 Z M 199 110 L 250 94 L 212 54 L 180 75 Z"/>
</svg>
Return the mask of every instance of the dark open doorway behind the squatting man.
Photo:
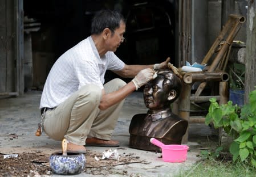
<svg viewBox="0 0 256 177">
<path fill-rule="evenodd" d="M 31 35 L 32 53 L 33 62 L 47 62 L 45 78 L 61 54 L 90 35 L 91 18 L 101 9 L 118 10 L 127 18 L 125 42 L 116 52 L 126 64 L 155 64 L 167 57 L 174 64 L 172 1 L 24 0 L 23 6 L 25 16 L 41 24 Z M 115 77 L 108 71 L 105 81 Z"/>
</svg>

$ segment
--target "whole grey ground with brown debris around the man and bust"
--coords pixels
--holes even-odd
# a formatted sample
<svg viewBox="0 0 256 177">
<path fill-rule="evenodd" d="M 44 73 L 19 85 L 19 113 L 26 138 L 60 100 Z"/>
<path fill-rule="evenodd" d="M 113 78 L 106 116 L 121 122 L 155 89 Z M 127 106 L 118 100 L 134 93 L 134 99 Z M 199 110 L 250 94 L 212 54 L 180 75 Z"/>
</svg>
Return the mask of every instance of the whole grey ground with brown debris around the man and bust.
<svg viewBox="0 0 256 177">
<path fill-rule="evenodd" d="M 18 98 L 0 99 L 0 176 L 52 176 L 49 167 L 51 153 L 61 151 L 61 143 L 43 135 L 35 136 L 38 120 L 38 107 L 41 92 L 30 92 Z M 192 124 L 189 129 L 188 159 L 184 163 L 166 163 L 161 153 L 129 148 L 129 123 L 136 113 L 145 113 L 140 93 L 125 100 L 113 139 L 120 141 L 120 160 L 95 160 L 100 158 L 104 147 L 88 147 L 86 176 L 168 176 L 180 169 L 186 170 L 200 158 L 201 149 L 210 149 L 214 142 L 208 137 L 212 130 L 202 124 Z M 216 141 L 217 142 L 217 141 Z M 18 154 L 16 158 L 3 158 L 7 154 Z M 79 175 L 80 176 L 80 175 Z"/>
</svg>

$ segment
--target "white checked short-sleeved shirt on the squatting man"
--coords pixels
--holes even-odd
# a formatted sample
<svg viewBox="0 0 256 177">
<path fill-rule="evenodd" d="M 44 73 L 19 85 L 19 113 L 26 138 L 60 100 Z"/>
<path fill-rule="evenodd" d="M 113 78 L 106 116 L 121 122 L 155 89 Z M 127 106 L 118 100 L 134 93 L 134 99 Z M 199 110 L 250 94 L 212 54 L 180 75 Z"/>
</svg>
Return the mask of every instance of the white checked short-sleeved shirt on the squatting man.
<svg viewBox="0 0 256 177">
<path fill-rule="evenodd" d="M 124 62 L 113 52 L 100 58 L 91 36 L 67 50 L 52 66 L 44 84 L 40 108 L 54 108 L 79 88 L 94 83 L 103 89 L 106 70 L 121 70 Z"/>
</svg>

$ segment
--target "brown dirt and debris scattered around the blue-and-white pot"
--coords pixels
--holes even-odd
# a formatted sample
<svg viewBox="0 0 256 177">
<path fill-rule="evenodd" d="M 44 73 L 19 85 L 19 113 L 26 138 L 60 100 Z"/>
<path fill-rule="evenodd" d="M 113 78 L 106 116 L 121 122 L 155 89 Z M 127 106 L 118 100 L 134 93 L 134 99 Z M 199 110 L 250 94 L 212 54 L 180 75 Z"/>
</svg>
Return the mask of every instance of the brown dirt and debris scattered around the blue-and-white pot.
<svg viewBox="0 0 256 177">
<path fill-rule="evenodd" d="M 0 176 L 50 176 L 53 171 L 49 165 L 49 154 L 37 152 L 18 153 L 18 157 L 4 158 L 5 154 L 0 154 Z M 134 154 L 119 154 L 119 161 L 110 159 L 101 159 L 102 155 L 94 151 L 88 151 L 86 154 L 86 167 L 84 172 L 87 174 L 111 174 L 113 166 L 124 165 L 127 163 L 147 163 Z M 98 158 L 98 160 L 95 159 Z M 127 171 L 119 171 L 119 174 L 125 175 Z"/>
</svg>

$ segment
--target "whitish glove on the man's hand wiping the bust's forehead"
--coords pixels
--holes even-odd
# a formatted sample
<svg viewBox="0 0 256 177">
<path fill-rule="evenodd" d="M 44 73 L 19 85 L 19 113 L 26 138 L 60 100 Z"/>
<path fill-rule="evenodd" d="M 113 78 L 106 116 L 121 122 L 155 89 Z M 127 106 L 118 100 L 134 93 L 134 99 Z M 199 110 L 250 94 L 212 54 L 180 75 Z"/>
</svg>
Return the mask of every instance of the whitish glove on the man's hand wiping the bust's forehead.
<svg viewBox="0 0 256 177">
<path fill-rule="evenodd" d="M 136 86 L 136 90 L 140 88 L 141 86 L 145 85 L 148 81 L 151 79 L 154 79 L 157 77 L 157 74 L 155 70 L 151 68 L 143 69 L 141 70 L 135 78 L 132 79 L 132 82 Z"/>
</svg>

